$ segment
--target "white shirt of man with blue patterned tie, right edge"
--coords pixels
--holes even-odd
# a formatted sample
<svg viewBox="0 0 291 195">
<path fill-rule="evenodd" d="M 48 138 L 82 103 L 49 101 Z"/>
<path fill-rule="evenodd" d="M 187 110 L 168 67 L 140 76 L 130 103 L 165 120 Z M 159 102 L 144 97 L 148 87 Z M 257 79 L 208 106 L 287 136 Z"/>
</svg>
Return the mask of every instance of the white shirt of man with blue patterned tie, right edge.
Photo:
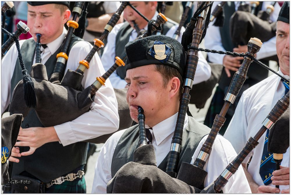
<svg viewBox="0 0 291 195">
<path fill-rule="evenodd" d="M 280 69 L 279 73 L 283 75 Z M 288 79 L 290 78 L 288 75 L 284 76 Z M 281 78 L 275 74 L 243 92 L 235 109 L 235 114 L 224 134 L 224 137 L 230 141 L 237 153 L 243 149 L 248 139 L 254 137 L 254 135 L 260 130 L 262 122 L 284 94 L 284 84 L 281 82 Z M 258 140 L 258 146 L 251 151 L 243 162 L 249 162 L 251 156 L 253 156 L 248 167 L 248 172 L 258 185 L 264 185 L 260 176 L 260 162 L 262 159 L 266 134 L 267 131 Z M 281 165 L 283 167 L 289 167 L 289 162 L 290 147 L 287 152 L 283 154 Z M 269 185 L 275 187 L 272 183 Z M 288 188 L 289 185 L 280 185 L 281 190 Z"/>
</svg>

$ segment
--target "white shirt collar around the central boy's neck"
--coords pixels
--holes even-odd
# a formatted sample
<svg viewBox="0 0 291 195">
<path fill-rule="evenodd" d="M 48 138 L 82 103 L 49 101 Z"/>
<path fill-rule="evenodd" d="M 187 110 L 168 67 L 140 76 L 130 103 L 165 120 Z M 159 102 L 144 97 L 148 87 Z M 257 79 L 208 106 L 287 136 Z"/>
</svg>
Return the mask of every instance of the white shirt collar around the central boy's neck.
<svg viewBox="0 0 291 195">
<path fill-rule="evenodd" d="M 157 146 L 163 142 L 169 135 L 174 133 L 176 122 L 177 122 L 178 112 L 173 116 L 165 119 L 164 121 L 159 122 L 155 126 L 152 127 L 153 137 L 155 137 Z M 184 121 L 184 128 L 188 125 L 188 115 L 186 114 L 185 121 Z M 149 128 L 149 126 L 145 126 L 145 128 Z M 156 139 L 159 138 L 159 139 Z"/>
</svg>

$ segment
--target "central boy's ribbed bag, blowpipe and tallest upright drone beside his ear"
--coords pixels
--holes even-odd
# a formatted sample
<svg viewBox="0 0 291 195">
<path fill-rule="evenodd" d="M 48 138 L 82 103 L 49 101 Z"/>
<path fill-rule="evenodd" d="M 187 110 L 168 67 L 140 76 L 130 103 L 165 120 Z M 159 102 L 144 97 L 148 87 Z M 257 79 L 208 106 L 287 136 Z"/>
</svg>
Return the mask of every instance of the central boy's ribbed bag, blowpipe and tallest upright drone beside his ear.
<svg viewBox="0 0 291 195">
<path fill-rule="evenodd" d="M 212 3 L 208 3 L 198 2 L 198 9 L 194 14 L 194 18 L 197 18 L 197 21 L 191 20 L 188 26 L 192 29 L 187 31 L 187 26 L 185 33 L 188 33 L 188 36 L 184 36 L 184 33 L 182 37 L 182 42 L 184 40 L 187 42 L 187 45 L 191 43 L 191 46 L 198 48 L 201 37 L 203 36 L 203 30 L 201 29 L 202 21 L 206 17 L 208 6 L 212 5 Z M 210 17 L 210 14 L 208 15 L 207 17 Z M 177 176 L 176 173 L 182 145 L 184 120 L 190 99 L 189 90 L 192 87 L 197 63 L 198 51 L 190 49 L 186 58 L 183 82 L 184 90 L 180 98 L 178 118 L 171 150 L 168 154 L 166 173 L 157 168 L 154 146 L 146 144 L 144 130 L 145 117 L 142 114 L 142 109 L 139 108 L 139 147 L 134 151 L 133 162 L 129 162 L 121 167 L 109 181 L 107 184 L 107 193 L 198 193 L 201 191 L 197 187 L 189 186 L 183 180 L 184 176 L 179 175 L 180 173 Z"/>
</svg>

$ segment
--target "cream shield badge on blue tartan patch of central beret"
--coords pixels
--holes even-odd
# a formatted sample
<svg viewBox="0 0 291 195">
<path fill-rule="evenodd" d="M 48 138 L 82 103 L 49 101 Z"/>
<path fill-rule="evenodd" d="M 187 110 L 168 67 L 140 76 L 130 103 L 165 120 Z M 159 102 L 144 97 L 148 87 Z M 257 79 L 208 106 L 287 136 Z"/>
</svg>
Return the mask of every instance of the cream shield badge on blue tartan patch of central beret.
<svg viewBox="0 0 291 195">
<path fill-rule="evenodd" d="M 165 63 L 170 57 L 171 52 L 171 48 L 167 47 L 165 43 L 156 40 L 148 53 L 153 58 Z"/>
</svg>

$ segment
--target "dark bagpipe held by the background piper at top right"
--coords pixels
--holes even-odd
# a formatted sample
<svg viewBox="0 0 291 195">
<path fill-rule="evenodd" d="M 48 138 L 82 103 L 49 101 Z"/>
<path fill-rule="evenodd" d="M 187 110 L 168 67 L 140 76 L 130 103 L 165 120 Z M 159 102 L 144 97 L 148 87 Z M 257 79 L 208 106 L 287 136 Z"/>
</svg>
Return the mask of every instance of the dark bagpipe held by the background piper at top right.
<svg viewBox="0 0 291 195">
<path fill-rule="evenodd" d="M 225 3 L 226 1 L 220 2 L 211 13 L 210 22 L 216 18 L 214 26 L 223 26 L 223 6 Z M 260 4 L 259 1 L 251 1 L 250 4 L 240 1 L 237 11 L 231 16 L 230 23 L 226 24 L 230 25 L 230 36 L 235 47 L 247 45 L 251 37 L 265 42 L 276 35 L 276 22 L 269 21 L 275 3 L 276 1 L 273 1 L 266 10 L 259 10 L 258 14 L 255 15 Z"/>
</svg>

